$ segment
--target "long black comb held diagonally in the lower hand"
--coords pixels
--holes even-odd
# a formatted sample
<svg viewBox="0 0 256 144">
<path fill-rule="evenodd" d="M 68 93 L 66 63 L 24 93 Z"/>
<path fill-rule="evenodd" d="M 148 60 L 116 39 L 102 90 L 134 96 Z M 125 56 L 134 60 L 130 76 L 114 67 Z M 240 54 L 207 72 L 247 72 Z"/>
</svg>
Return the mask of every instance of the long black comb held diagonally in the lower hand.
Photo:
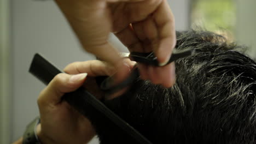
<svg viewBox="0 0 256 144">
<path fill-rule="evenodd" d="M 62 73 L 38 53 L 34 55 L 29 71 L 40 81 L 45 83 L 45 85 L 48 85 L 55 75 Z M 117 126 L 121 131 L 127 134 L 127 136 L 134 140 L 135 143 L 151 144 L 146 137 L 141 135 L 136 129 L 131 127 L 113 111 L 108 109 L 108 107 L 96 99 L 94 95 L 86 91 L 84 87 L 80 87 L 77 91 L 66 93 L 63 95 L 62 99 L 66 100 L 77 111 L 89 119 L 93 119 L 92 117 L 108 119 L 112 125 Z"/>
</svg>

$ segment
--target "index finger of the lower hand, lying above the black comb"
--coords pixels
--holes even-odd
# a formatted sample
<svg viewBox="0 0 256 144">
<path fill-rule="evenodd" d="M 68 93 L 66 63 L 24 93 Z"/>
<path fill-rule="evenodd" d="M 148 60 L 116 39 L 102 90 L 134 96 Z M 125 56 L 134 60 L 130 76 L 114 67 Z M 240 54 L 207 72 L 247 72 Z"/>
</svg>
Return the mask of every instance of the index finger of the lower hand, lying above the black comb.
<svg viewBox="0 0 256 144">
<path fill-rule="evenodd" d="M 116 70 L 113 65 L 107 62 L 92 60 L 68 64 L 64 71 L 68 74 L 88 73 L 89 76 L 110 76 L 113 75 Z"/>
</svg>

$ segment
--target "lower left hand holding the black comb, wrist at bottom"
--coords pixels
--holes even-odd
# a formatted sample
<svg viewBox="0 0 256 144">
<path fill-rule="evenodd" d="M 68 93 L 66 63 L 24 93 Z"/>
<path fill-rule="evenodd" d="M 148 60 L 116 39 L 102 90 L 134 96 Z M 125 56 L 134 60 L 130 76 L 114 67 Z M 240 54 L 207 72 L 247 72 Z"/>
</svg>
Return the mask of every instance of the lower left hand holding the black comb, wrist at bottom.
<svg viewBox="0 0 256 144">
<path fill-rule="evenodd" d="M 82 86 L 90 79 L 89 76 L 115 73 L 113 67 L 101 61 L 72 63 L 65 68 L 65 71 L 72 75 L 62 73 L 55 76 L 38 98 L 40 124 L 37 131 L 39 140 L 43 144 L 89 142 L 95 135 L 90 121 L 66 101 L 61 101 L 61 97 Z"/>
</svg>

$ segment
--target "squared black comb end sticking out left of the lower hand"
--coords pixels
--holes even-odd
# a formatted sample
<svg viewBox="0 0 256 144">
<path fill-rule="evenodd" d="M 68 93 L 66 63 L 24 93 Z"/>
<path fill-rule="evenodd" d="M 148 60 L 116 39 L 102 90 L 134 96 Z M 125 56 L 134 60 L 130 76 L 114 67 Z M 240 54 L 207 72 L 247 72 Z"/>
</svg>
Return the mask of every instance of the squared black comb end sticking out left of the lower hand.
<svg viewBox="0 0 256 144">
<path fill-rule="evenodd" d="M 48 83 L 54 78 L 55 75 L 62 73 L 59 69 L 46 61 L 46 59 L 44 59 L 38 53 L 34 55 L 29 71 L 45 85 L 48 85 Z"/>
</svg>

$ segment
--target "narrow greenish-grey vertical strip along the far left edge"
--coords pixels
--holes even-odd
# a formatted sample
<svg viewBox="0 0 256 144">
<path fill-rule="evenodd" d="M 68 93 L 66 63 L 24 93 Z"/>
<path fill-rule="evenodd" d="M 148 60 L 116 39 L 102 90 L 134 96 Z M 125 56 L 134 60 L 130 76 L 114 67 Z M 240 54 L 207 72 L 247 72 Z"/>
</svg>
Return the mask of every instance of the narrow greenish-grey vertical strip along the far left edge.
<svg viewBox="0 0 256 144">
<path fill-rule="evenodd" d="M 0 143 L 10 141 L 9 1 L 0 0 Z"/>
</svg>

